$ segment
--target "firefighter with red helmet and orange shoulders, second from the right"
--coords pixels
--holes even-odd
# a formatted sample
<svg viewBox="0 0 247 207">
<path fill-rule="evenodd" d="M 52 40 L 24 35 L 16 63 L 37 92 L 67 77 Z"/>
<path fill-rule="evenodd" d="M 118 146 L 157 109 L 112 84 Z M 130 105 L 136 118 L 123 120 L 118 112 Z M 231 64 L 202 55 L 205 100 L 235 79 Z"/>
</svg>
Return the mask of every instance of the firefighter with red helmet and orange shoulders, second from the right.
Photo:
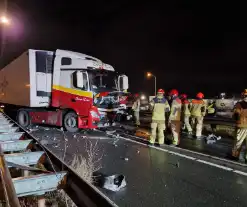
<svg viewBox="0 0 247 207">
<path fill-rule="evenodd" d="M 191 101 L 191 122 L 193 129 L 196 131 L 196 138 L 200 139 L 202 137 L 202 127 L 203 127 L 203 118 L 206 115 L 206 104 L 203 101 L 204 95 L 199 92 L 196 95 L 196 99 Z"/>
</svg>

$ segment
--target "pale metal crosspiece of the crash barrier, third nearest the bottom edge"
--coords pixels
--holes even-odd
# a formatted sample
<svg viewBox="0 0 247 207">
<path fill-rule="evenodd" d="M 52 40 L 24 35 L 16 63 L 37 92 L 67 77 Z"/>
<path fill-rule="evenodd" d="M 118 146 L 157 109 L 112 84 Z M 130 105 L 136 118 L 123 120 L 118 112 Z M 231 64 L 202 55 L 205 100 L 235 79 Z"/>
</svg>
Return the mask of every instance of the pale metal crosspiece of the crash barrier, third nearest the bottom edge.
<svg viewBox="0 0 247 207">
<path fill-rule="evenodd" d="M 26 150 L 32 139 L 0 142 L 4 152 Z"/>
</svg>

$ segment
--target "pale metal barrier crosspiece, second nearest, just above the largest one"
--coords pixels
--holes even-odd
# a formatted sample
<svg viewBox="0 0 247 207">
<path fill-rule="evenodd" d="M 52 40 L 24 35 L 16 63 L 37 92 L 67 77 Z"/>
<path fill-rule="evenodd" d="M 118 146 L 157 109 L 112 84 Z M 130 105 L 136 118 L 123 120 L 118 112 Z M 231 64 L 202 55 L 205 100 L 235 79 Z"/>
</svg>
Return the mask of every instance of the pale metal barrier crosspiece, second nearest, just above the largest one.
<svg viewBox="0 0 247 207">
<path fill-rule="evenodd" d="M 5 160 L 19 165 L 35 165 L 43 154 L 43 151 L 6 154 Z"/>
</svg>

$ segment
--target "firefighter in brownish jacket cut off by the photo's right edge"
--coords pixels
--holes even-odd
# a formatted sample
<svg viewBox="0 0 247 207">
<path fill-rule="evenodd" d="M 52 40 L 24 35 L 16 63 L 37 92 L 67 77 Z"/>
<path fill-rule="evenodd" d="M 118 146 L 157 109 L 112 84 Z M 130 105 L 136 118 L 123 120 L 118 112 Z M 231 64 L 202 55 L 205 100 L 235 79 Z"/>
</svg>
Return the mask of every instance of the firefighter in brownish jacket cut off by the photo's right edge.
<svg viewBox="0 0 247 207">
<path fill-rule="evenodd" d="M 247 89 L 242 93 L 242 101 L 238 102 L 234 108 L 233 114 L 236 120 L 236 140 L 232 149 L 232 156 L 236 160 L 239 159 L 241 146 L 245 141 L 247 147 Z M 245 162 L 247 161 L 247 154 L 245 153 Z"/>
</svg>

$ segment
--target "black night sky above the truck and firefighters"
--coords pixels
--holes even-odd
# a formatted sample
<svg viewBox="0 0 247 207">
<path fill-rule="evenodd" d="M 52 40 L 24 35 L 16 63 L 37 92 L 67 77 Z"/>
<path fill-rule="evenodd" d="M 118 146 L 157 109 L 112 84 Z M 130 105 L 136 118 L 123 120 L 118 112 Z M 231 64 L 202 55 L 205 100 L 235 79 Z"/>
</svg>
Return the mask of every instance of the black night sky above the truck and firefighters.
<svg viewBox="0 0 247 207">
<path fill-rule="evenodd" d="M 130 3 L 131 2 L 131 3 Z M 246 7 L 238 1 L 9 0 L 1 64 L 28 48 L 95 56 L 130 78 L 130 91 L 240 93 L 247 79 Z M 243 1 L 244 2 L 244 1 Z M 1 27 L 2 31 L 2 27 Z"/>
</svg>

